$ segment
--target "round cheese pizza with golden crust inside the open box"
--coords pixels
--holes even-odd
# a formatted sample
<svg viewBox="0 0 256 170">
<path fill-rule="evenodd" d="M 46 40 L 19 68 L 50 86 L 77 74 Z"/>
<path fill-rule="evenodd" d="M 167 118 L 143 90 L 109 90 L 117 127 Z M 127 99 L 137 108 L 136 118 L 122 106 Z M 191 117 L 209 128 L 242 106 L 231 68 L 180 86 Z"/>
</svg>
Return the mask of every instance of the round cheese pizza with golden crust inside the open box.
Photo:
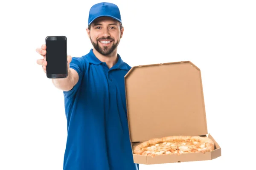
<svg viewBox="0 0 256 170">
<path fill-rule="evenodd" d="M 201 136 L 167 136 L 145 141 L 134 148 L 134 154 L 155 157 L 184 153 L 205 153 L 214 150 L 214 142 Z"/>
</svg>

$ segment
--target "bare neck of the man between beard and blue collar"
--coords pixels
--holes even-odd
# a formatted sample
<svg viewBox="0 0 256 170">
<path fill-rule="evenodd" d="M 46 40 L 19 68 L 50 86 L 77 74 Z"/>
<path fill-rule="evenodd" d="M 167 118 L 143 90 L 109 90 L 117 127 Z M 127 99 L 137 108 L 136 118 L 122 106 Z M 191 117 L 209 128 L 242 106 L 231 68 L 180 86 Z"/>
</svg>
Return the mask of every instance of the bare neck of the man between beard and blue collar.
<svg viewBox="0 0 256 170">
<path fill-rule="evenodd" d="M 108 56 L 100 54 L 95 48 L 93 48 L 93 54 L 101 61 L 108 65 L 108 68 L 113 67 L 117 62 L 117 50 L 114 50 Z"/>
</svg>

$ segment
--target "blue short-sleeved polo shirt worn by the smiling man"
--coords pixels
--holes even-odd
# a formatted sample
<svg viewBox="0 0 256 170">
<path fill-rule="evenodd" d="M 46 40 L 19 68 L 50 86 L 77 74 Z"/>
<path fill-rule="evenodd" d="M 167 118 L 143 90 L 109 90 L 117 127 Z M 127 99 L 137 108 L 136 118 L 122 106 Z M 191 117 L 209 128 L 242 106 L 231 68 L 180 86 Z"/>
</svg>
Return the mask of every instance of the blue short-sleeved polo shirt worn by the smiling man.
<svg viewBox="0 0 256 170">
<path fill-rule="evenodd" d="M 109 69 L 93 49 L 70 63 L 78 83 L 64 91 L 67 144 L 64 170 L 139 170 L 134 164 L 128 131 L 122 61 Z"/>
</svg>

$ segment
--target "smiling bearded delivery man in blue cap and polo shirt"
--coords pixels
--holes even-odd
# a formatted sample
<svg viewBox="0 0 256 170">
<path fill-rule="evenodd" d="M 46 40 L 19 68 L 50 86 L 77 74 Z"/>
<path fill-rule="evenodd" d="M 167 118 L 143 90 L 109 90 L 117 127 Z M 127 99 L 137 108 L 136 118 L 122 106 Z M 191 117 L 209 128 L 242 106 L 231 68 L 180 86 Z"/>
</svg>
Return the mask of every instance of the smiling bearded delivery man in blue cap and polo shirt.
<svg viewBox="0 0 256 170">
<path fill-rule="evenodd" d="M 63 90 L 67 117 L 64 170 L 138 170 L 129 139 L 124 76 L 131 67 L 117 54 L 122 38 L 119 8 L 113 3 L 91 7 L 87 34 L 93 49 L 68 56 L 68 77 L 52 79 Z M 46 45 L 37 48 L 44 59 Z"/>
</svg>

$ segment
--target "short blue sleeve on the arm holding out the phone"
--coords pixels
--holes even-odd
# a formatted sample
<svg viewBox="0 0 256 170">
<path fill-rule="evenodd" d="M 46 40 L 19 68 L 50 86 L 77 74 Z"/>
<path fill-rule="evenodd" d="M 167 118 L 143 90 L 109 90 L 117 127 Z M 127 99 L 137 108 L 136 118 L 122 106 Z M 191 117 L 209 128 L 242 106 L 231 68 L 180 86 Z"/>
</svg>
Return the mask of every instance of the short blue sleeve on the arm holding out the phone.
<svg viewBox="0 0 256 170">
<path fill-rule="evenodd" d="M 82 57 L 72 57 L 70 68 L 73 68 L 79 75 L 78 82 L 70 91 L 63 91 L 66 98 L 72 98 L 78 91 L 85 72 L 85 62 Z"/>
</svg>

